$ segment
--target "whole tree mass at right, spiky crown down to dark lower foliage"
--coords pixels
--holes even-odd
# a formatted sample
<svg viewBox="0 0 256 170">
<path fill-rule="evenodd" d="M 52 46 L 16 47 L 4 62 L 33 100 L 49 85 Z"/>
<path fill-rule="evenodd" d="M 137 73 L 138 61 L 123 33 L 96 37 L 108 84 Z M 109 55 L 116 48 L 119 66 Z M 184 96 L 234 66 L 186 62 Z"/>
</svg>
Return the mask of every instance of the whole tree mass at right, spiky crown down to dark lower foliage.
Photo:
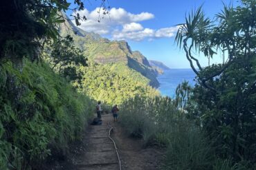
<svg viewBox="0 0 256 170">
<path fill-rule="evenodd" d="M 197 76 L 190 113 L 208 131 L 219 155 L 255 162 L 256 1 L 223 6 L 214 20 L 200 7 L 180 24 L 175 40 Z M 202 67 L 192 50 L 209 59 L 220 52 L 223 63 Z"/>
</svg>

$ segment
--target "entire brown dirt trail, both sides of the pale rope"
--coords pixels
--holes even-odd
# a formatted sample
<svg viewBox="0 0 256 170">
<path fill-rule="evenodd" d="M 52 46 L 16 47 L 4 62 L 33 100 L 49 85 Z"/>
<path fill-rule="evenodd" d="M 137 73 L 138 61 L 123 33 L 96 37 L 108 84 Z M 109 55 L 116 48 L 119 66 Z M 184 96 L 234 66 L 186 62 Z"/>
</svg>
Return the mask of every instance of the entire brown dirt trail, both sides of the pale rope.
<svg viewBox="0 0 256 170">
<path fill-rule="evenodd" d="M 118 156 L 113 142 L 109 139 L 109 126 L 113 127 L 111 138 L 118 147 L 122 170 L 159 169 L 162 154 L 158 149 L 143 149 L 143 141 L 125 133 L 119 123 L 113 123 L 112 114 L 102 115 L 102 125 L 89 125 L 84 140 L 73 149 L 68 164 L 57 169 L 77 170 L 118 170 Z"/>
</svg>

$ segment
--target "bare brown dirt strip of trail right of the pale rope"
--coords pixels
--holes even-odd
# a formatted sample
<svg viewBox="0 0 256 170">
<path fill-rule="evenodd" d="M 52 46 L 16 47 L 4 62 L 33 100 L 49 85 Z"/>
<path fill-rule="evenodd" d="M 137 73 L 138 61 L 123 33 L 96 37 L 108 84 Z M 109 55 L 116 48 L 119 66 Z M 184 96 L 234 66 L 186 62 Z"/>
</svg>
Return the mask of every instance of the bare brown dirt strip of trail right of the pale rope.
<svg viewBox="0 0 256 170">
<path fill-rule="evenodd" d="M 143 148 L 143 140 L 131 138 L 118 124 L 113 125 L 113 136 L 122 160 L 122 170 L 160 169 L 163 150 L 153 147 Z"/>
</svg>

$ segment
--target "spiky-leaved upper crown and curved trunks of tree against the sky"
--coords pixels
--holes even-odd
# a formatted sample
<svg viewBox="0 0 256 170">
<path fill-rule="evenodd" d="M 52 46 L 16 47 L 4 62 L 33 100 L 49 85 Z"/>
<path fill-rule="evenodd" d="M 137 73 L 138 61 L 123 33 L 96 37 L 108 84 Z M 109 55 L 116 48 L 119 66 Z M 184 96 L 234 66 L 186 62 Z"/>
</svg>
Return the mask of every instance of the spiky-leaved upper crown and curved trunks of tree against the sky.
<svg viewBox="0 0 256 170">
<path fill-rule="evenodd" d="M 241 3 L 242 6 L 237 8 L 224 6 L 216 15 L 216 21 L 205 17 L 200 7 L 186 17 L 185 23 L 179 24 L 175 40 L 180 47 L 183 45 L 190 66 L 199 76 L 201 84 L 212 91 L 217 92 L 218 89 L 211 87 L 208 81 L 219 76 L 237 58 L 243 56 L 248 59 L 255 55 L 256 2 L 244 0 Z M 218 65 L 212 74 L 200 75 L 199 72 L 203 68 L 199 60 L 192 55 L 193 47 L 210 58 L 219 50 L 223 55 L 227 54 L 227 59 L 222 65 Z"/>
</svg>

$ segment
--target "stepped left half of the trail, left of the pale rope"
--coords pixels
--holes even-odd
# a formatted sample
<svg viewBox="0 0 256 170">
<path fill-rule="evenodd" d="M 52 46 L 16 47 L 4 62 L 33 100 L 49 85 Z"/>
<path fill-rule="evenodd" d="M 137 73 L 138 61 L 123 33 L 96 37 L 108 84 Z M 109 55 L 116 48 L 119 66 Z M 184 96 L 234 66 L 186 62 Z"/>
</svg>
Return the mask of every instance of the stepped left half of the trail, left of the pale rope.
<svg viewBox="0 0 256 170">
<path fill-rule="evenodd" d="M 112 121 L 110 114 L 102 115 L 102 125 L 89 125 L 84 139 L 86 152 L 75 161 L 76 169 L 119 169 L 116 149 L 112 140 L 109 139 L 109 123 L 112 123 Z"/>
</svg>

